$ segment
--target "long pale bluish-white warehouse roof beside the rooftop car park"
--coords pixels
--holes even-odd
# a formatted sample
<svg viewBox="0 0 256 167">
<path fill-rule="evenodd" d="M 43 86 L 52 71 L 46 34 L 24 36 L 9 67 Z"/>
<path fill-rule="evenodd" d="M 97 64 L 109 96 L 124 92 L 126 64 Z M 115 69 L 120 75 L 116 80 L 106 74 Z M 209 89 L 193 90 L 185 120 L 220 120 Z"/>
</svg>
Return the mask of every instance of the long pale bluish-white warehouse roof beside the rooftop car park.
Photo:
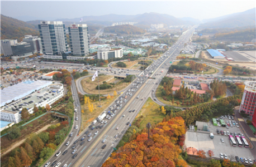
<svg viewBox="0 0 256 167">
<path fill-rule="evenodd" d="M 40 90 L 43 87 L 52 84 L 50 81 L 25 81 L 17 85 L 9 86 L 1 91 L 1 106 L 12 102 L 13 100 L 21 99 L 35 90 Z"/>
</svg>

